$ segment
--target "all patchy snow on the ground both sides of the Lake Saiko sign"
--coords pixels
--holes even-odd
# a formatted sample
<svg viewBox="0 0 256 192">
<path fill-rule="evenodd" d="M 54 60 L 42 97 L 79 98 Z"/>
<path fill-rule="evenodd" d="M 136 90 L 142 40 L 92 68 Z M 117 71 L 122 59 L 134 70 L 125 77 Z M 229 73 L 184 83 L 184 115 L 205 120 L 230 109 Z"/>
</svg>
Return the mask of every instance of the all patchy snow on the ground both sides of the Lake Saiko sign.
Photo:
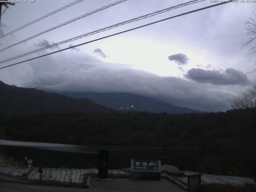
<svg viewBox="0 0 256 192">
<path fill-rule="evenodd" d="M 122 170 L 108 170 L 109 174 L 130 174 L 130 168 Z M 164 165 L 161 166 L 162 170 L 168 172 L 180 172 L 177 167 Z M 40 173 L 37 167 L 31 168 L 17 168 L 17 167 L 0 167 L 0 173 L 9 174 L 12 176 L 27 175 L 30 180 L 40 180 Z M 188 183 L 188 175 L 197 174 L 192 171 L 182 171 L 184 175 L 176 176 L 178 180 Z M 98 169 L 66 169 L 66 168 L 43 168 L 42 180 L 43 181 L 57 181 L 82 184 L 84 182 L 84 174 L 98 174 Z M 231 184 L 234 186 L 244 184 L 255 184 L 251 178 L 237 177 L 237 176 L 221 176 L 221 175 L 201 175 L 202 184 L 218 183 L 218 184 Z"/>
</svg>

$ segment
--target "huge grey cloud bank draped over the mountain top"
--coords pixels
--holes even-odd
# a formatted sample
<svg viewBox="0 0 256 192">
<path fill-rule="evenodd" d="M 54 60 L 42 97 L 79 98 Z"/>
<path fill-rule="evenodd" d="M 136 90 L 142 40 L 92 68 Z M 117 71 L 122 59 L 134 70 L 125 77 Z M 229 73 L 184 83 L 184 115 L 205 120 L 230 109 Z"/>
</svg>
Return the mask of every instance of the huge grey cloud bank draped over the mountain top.
<svg viewBox="0 0 256 192">
<path fill-rule="evenodd" d="M 24 87 L 71 92 L 124 92 L 202 111 L 231 108 L 232 93 L 221 90 L 220 86 L 162 77 L 128 65 L 102 62 L 82 52 L 56 54 L 30 63 L 30 70 L 19 77 Z"/>
</svg>

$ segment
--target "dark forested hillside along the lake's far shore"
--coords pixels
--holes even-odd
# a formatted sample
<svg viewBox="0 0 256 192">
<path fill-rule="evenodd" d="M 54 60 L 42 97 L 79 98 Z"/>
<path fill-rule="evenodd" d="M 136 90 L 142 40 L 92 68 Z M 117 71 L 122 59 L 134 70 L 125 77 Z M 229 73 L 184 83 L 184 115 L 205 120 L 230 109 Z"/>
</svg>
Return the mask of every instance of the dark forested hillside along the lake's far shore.
<svg viewBox="0 0 256 192">
<path fill-rule="evenodd" d="M 256 172 L 256 108 L 207 114 L 46 114 L 0 118 L 12 140 L 205 148 L 202 165 Z M 228 172 L 226 172 L 228 174 Z"/>
</svg>

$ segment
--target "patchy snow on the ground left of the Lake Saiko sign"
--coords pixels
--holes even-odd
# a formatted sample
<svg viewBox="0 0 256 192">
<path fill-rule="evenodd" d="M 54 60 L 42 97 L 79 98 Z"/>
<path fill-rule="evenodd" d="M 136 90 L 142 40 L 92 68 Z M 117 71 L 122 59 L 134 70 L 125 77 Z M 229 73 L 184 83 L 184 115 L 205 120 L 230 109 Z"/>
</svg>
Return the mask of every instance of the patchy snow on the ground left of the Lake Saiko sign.
<svg viewBox="0 0 256 192">
<path fill-rule="evenodd" d="M 40 173 L 37 167 L 17 168 L 17 167 L 0 167 L 0 173 L 12 176 L 22 176 L 26 174 L 30 180 L 40 180 Z M 121 170 L 109 170 L 109 174 L 129 174 Z M 43 181 L 57 181 L 82 184 L 84 174 L 98 174 L 98 169 L 66 169 L 66 168 L 43 168 Z"/>
</svg>

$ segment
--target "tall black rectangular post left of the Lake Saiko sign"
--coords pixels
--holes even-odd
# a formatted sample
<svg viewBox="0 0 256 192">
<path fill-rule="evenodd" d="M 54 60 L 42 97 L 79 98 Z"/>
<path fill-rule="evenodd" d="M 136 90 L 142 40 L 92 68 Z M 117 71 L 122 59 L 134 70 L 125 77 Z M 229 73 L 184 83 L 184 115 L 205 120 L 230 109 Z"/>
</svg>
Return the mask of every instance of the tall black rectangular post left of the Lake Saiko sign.
<svg viewBox="0 0 256 192">
<path fill-rule="evenodd" d="M 98 157 L 98 178 L 108 178 L 108 150 L 99 150 Z"/>
</svg>

